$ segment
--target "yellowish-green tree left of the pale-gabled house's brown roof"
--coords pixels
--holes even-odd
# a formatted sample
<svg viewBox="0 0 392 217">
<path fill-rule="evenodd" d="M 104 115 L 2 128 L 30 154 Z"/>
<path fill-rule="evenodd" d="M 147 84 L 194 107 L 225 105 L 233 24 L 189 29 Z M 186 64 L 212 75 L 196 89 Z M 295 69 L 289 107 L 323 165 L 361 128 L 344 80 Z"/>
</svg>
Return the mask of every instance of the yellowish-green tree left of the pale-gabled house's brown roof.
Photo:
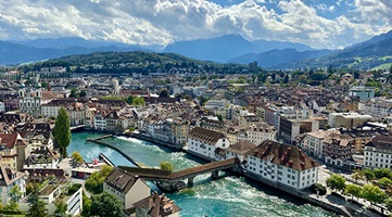
<svg viewBox="0 0 392 217">
<path fill-rule="evenodd" d="M 104 165 L 101 170 L 94 171 L 85 182 L 85 187 L 88 191 L 99 194 L 103 191 L 103 181 L 113 170 L 113 167 Z"/>
</svg>

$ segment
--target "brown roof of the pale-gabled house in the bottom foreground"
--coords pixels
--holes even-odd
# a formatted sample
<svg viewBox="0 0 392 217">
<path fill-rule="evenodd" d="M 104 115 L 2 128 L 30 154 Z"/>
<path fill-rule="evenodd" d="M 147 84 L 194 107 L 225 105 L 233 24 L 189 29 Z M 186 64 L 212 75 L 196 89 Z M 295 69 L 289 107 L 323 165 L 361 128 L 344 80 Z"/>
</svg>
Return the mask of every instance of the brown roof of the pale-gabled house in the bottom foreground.
<svg viewBox="0 0 392 217">
<path fill-rule="evenodd" d="M 126 194 L 138 179 L 138 177 L 116 167 L 113 168 L 113 171 L 106 177 L 105 183 Z"/>
</svg>

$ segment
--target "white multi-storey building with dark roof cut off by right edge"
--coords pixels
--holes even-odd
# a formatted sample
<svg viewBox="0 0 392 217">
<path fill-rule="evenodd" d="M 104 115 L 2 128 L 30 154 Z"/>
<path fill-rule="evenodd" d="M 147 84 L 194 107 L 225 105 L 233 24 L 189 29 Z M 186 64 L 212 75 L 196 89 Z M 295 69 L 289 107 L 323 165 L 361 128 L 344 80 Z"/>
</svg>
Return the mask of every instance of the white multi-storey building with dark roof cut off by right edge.
<svg viewBox="0 0 392 217">
<path fill-rule="evenodd" d="M 377 136 L 365 145 L 364 166 L 392 169 L 392 136 Z"/>
</svg>

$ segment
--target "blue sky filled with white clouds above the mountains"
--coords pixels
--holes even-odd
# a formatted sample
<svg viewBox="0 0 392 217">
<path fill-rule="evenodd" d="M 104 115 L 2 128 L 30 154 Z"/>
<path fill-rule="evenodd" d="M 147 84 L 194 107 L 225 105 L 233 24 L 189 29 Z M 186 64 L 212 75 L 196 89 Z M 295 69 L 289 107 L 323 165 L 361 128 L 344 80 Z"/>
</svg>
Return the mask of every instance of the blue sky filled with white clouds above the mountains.
<svg viewBox="0 0 392 217">
<path fill-rule="evenodd" d="M 342 48 L 392 29 L 392 0 L 1 0 L 0 40 L 139 44 L 240 34 Z"/>
</svg>

